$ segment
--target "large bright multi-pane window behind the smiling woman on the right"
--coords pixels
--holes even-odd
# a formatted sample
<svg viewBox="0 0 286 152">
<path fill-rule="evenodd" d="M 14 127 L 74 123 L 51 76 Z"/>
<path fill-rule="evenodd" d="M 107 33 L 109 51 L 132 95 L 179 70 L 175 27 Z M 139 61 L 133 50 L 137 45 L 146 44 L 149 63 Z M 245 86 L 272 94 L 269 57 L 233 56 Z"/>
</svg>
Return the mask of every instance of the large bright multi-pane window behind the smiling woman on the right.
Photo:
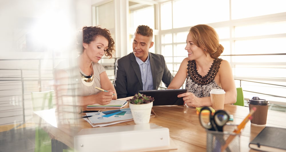
<svg viewBox="0 0 286 152">
<path fill-rule="evenodd" d="M 187 57 L 190 27 L 208 24 L 217 31 L 225 48 L 220 58 L 231 63 L 245 98 L 286 103 L 285 4 L 284 0 L 165 1 L 159 4 L 160 53 L 175 73 Z"/>
</svg>

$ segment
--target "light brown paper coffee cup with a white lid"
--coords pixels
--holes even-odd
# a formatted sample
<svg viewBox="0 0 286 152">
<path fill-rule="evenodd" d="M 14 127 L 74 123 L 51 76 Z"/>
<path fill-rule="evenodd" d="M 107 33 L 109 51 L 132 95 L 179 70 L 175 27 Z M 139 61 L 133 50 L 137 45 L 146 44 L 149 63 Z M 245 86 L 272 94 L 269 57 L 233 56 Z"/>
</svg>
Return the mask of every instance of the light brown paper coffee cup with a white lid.
<svg viewBox="0 0 286 152">
<path fill-rule="evenodd" d="M 213 109 L 222 110 L 225 104 L 225 91 L 223 89 L 212 89 L 210 91 L 210 100 Z"/>
</svg>

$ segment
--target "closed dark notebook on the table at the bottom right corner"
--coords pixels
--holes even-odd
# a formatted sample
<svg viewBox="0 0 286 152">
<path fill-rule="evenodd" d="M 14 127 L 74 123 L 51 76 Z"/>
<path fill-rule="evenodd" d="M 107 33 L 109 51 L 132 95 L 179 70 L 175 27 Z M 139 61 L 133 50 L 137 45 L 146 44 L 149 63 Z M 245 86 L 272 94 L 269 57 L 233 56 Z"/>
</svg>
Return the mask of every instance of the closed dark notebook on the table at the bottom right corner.
<svg viewBox="0 0 286 152">
<path fill-rule="evenodd" d="M 249 147 L 260 151 L 286 151 L 286 128 L 266 126 Z"/>
</svg>

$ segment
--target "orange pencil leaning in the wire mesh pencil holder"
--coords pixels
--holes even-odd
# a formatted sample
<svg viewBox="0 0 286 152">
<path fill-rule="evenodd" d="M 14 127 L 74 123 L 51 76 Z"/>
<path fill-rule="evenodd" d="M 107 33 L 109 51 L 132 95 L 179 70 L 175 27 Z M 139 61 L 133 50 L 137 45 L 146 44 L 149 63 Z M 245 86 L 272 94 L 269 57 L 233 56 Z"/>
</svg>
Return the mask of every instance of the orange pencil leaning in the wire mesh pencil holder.
<svg viewBox="0 0 286 152">
<path fill-rule="evenodd" d="M 249 114 L 243 119 L 243 121 L 237 126 L 237 129 L 235 129 L 235 131 L 233 131 L 234 133 L 240 133 L 241 129 L 243 129 L 246 125 L 246 123 L 249 121 L 249 118 L 251 117 L 251 115 L 256 111 L 256 107 L 253 107 Z M 225 141 L 225 145 L 223 145 L 221 147 L 221 151 L 225 151 L 225 149 L 227 148 L 227 146 L 229 145 L 229 143 L 231 143 L 231 141 L 234 139 L 235 135 L 229 135 L 229 137 L 227 138 L 227 140 Z"/>
</svg>

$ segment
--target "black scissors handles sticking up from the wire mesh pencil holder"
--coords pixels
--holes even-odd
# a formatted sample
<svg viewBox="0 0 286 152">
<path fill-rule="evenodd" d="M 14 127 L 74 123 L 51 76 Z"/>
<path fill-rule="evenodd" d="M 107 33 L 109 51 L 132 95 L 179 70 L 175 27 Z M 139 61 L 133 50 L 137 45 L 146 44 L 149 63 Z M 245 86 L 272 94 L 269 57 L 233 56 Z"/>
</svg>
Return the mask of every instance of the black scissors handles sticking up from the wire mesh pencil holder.
<svg viewBox="0 0 286 152">
<path fill-rule="evenodd" d="M 212 115 L 212 111 L 208 107 L 203 107 L 200 111 L 207 110 L 209 115 L 203 114 L 199 115 L 200 124 L 212 131 L 223 131 L 223 126 L 229 121 L 229 114 L 224 110 L 218 110 Z"/>
</svg>

